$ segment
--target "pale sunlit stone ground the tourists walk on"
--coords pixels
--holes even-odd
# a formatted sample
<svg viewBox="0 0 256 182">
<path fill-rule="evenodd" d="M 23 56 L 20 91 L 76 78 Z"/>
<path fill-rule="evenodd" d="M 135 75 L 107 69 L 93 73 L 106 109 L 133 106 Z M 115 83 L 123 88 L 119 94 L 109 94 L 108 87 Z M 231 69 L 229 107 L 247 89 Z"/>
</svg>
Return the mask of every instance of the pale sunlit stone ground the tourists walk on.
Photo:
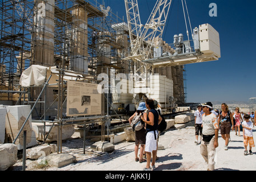
<svg viewBox="0 0 256 182">
<path fill-rule="evenodd" d="M 159 145 L 164 150 L 158 150 L 155 171 L 206 171 L 207 164 L 200 154 L 200 145 L 194 143 L 195 130 L 193 126 L 183 129 L 170 129 L 160 135 Z M 256 143 L 256 126 L 253 129 Z M 243 137 L 231 131 L 229 150 L 224 150 L 225 141 L 219 133 L 219 147 L 216 148 L 215 171 L 254 171 L 256 169 L 256 150 L 253 155 L 243 155 Z M 39 165 L 38 160 L 26 160 L 26 171 L 142 171 L 146 163 L 135 162 L 134 142 L 120 142 L 115 144 L 113 152 L 92 151 L 87 143 L 83 154 L 82 139 L 63 141 L 63 153 L 74 155 L 77 159 L 65 167 L 51 167 Z M 9 171 L 21 171 L 22 160 L 19 159 Z"/>
</svg>

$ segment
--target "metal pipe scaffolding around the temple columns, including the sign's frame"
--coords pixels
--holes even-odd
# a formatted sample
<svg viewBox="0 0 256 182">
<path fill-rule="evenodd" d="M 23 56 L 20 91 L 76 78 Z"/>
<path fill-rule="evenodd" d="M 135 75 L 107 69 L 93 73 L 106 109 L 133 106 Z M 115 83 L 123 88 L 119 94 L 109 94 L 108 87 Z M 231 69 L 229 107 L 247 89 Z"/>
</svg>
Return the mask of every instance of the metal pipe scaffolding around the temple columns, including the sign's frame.
<svg viewBox="0 0 256 182">
<path fill-rule="evenodd" d="M 101 81 L 97 79 L 99 73 L 107 76 L 135 73 L 141 66 L 125 59 L 129 55 L 130 38 L 124 20 L 110 7 L 94 0 L 2 0 L 0 6 L 1 104 L 3 101 L 5 105 L 30 104 L 32 118 L 43 123 L 50 120 L 46 115 L 56 116 L 51 123 L 52 127 L 58 127 L 60 152 L 63 125 L 84 124 L 85 131 L 85 124 L 101 121 L 105 135 L 109 108 L 119 117 L 111 94 L 102 95 L 101 115 L 63 118 L 67 96 L 63 76 L 75 72 L 80 75 L 76 81 L 97 84 Z M 19 84 L 22 72 L 34 64 L 55 68 L 57 86 L 45 82 L 41 86 L 22 87 Z M 178 104 L 185 102 L 183 71 L 183 65 L 155 68 L 155 73 L 174 80 Z"/>
</svg>

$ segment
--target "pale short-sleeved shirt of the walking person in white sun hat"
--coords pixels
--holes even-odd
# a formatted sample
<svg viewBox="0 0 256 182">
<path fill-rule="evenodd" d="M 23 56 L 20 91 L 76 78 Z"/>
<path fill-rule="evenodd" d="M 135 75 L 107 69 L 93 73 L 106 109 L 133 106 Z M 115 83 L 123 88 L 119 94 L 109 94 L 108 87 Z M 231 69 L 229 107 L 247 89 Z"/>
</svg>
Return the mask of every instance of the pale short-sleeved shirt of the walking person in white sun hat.
<svg viewBox="0 0 256 182">
<path fill-rule="evenodd" d="M 203 135 L 215 134 L 215 129 L 218 129 L 218 122 L 215 114 L 211 113 L 209 115 L 205 115 L 205 113 L 203 113 L 202 122 L 203 122 L 203 131 L 202 131 Z"/>
</svg>

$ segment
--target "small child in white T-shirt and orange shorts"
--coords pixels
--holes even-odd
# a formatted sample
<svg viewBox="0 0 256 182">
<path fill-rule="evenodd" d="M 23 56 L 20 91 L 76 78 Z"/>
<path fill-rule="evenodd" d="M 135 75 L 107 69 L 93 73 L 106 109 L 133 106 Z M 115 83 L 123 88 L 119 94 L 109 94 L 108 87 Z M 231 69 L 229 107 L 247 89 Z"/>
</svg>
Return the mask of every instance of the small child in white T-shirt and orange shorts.
<svg viewBox="0 0 256 182">
<path fill-rule="evenodd" d="M 248 151 L 247 151 L 248 144 L 250 146 L 249 152 L 250 152 L 250 155 L 251 155 L 251 154 L 253 154 L 253 152 L 251 152 L 251 147 L 255 147 L 254 140 L 253 140 L 253 122 L 250 121 L 250 115 L 249 114 L 245 114 L 245 116 L 243 118 L 245 118 L 245 121 L 242 122 L 243 143 L 245 144 L 244 155 L 248 154 Z"/>
</svg>

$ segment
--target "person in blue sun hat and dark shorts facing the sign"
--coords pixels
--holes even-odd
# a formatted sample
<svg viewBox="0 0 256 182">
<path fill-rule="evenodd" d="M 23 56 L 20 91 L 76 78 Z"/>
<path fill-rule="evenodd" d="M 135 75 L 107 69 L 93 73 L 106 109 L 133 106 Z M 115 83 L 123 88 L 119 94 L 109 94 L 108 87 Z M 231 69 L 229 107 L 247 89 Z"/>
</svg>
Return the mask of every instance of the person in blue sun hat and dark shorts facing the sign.
<svg viewBox="0 0 256 182">
<path fill-rule="evenodd" d="M 138 122 L 139 125 L 143 125 L 143 127 L 141 127 L 140 130 L 135 129 L 135 125 L 134 130 L 135 130 L 135 147 L 134 147 L 134 152 L 135 152 L 135 162 L 145 162 L 146 160 L 143 159 L 143 152 L 145 150 L 145 144 L 146 144 L 146 130 L 145 130 L 145 123 L 143 121 L 141 121 L 140 115 L 146 114 L 145 110 L 146 110 L 146 104 L 145 102 L 140 102 L 139 103 L 139 107 L 137 109 L 137 111 L 129 118 L 129 123 L 130 125 L 133 125 L 133 122 L 135 122 L 135 125 Z M 138 118 L 139 121 L 134 121 L 134 119 Z M 140 151 L 139 151 L 139 145 L 141 145 Z M 138 151 L 139 151 L 139 158 L 138 158 Z"/>
</svg>

